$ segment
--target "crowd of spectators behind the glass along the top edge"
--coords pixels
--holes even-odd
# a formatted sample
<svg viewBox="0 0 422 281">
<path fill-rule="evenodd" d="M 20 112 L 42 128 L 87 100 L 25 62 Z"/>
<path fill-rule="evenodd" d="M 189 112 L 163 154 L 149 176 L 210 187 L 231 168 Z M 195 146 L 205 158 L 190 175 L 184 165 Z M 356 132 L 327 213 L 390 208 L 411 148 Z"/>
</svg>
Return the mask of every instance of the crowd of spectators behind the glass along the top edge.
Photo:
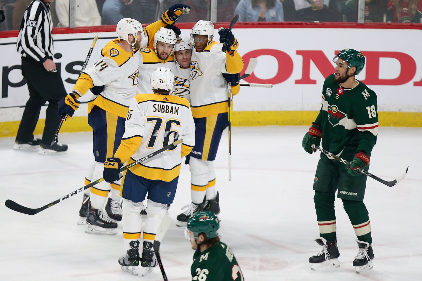
<svg viewBox="0 0 422 281">
<path fill-rule="evenodd" d="M 130 17 L 148 24 L 176 3 L 192 7 L 180 22 L 209 19 L 210 0 L 55 0 L 51 6 L 54 27 L 69 26 L 70 1 L 75 1 L 76 27 L 117 24 Z M 32 0 L 0 0 L 5 21 L 0 31 L 19 30 Z M 357 22 L 359 0 L 218 0 L 217 22 Z M 422 0 L 365 0 L 364 22 L 422 23 Z"/>
</svg>

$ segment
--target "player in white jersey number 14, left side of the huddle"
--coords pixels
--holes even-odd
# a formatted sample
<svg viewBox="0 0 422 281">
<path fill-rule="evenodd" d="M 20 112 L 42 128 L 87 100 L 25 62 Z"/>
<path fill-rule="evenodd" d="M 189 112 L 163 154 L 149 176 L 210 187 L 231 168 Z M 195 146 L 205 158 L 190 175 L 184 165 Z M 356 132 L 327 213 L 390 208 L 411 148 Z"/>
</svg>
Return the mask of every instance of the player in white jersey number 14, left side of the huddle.
<svg viewBox="0 0 422 281">
<path fill-rule="evenodd" d="M 101 51 L 101 59 L 84 70 L 72 93 L 59 104 L 59 115 L 67 113 L 73 116 L 79 107 L 77 98 L 93 86 L 103 86 L 103 90 L 98 95 L 92 95 L 88 103 L 95 160 L 85 184 L 102 177 L 104 161 L 119 146 L 130 100 L 138 93 L 139 48 L 152 45 L 146 33 L 154 34 L 164 25 L 167 24 L 160 20 L 143 28 L 137 20 L 121 19 L 116 27 L 118 38 L 106 44 Z M 101 182 L 92 186 L 83 200 L 78 224 L 86 219 L 87 233 L 116 234 L 116 221 L 122 220 L 119 182 Z"/>
</svg>

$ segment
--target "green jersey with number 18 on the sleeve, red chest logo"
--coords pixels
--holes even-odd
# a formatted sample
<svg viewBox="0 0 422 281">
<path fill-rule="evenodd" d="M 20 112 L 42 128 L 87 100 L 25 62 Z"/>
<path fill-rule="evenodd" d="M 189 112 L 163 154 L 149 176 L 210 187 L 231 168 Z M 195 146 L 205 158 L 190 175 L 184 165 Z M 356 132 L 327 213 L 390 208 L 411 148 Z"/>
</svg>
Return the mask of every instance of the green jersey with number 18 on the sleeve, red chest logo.
<svg viewBox="0 0 422 281">
<path fill-rule="evenodd" d="M 369 155 L 378 135 L 376 94 L 362 82 L 344 89 L 331 74 L 322 87 L 322 107 L 315 123 L 322 130 L 322 147 L 334 154 L 353 157 L 363 150 Z M 347 151 L 347 152 L 346 152 Z"/>
</svg>

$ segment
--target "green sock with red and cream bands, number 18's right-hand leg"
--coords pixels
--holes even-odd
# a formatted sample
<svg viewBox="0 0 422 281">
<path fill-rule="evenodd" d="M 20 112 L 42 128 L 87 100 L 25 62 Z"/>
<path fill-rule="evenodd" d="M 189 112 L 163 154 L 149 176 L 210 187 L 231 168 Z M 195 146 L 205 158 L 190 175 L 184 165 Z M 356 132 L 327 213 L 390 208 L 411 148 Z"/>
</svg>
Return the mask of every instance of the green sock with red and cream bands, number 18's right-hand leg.
<svg viewBox="0 0 422 281">
<path fill-rule="evenodd" d="M 357 239 L 371 244 L 371 222 L 365 204 L 362 201 L 343 200 L 343 208 L 349 216 Z"/>
</svg>

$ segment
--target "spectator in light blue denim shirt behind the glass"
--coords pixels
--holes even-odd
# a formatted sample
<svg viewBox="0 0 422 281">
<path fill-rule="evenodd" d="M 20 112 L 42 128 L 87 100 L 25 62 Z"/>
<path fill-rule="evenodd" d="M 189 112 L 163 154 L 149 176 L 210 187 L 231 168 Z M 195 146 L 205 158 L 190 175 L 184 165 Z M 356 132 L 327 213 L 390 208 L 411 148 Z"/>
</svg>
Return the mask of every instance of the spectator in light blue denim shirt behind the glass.
<svg viewBox="0 0 422 281">
<path fill-rule="evenodd" d="M 241 0 L 235 9 L 240 22 L 284 22 L 279 0 Z"/>
</svg>

